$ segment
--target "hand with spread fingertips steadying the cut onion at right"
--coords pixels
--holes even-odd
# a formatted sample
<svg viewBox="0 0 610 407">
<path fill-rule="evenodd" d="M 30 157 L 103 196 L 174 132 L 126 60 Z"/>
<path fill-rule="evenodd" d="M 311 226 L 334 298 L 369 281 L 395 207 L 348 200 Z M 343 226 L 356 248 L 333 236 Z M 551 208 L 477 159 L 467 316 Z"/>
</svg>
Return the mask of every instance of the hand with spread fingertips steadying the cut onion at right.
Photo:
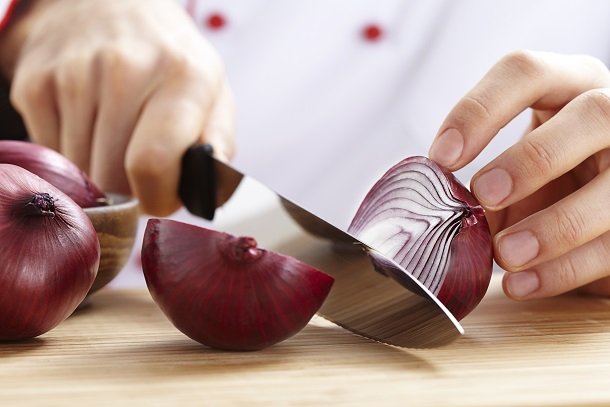
<svg viewBox="0 0 610 407">
<path fill-rule="evenodd" d="M 610 74 L 587 56 L 520 51 L 453 108 L 430 157 L 457 170 L 531 108 L 525 135 L 472 178 L 504 290 L 515 299 L 581 287 L 610 295 Z"/>
</svg>

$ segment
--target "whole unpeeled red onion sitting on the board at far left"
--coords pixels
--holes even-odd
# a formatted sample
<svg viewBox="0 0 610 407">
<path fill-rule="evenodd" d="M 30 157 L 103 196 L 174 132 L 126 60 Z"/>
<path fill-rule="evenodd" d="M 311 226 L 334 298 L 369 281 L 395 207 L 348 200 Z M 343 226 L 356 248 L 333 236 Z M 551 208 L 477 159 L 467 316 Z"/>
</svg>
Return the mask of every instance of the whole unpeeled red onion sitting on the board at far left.
<svg viewBox="0 0 610 407">
<path fill-rule="evenodd" d="M 39 336 L 82 302 L 100 259 L 83 209 L 27 170 L 0 164 L 0 340 Z"/>
</svg>

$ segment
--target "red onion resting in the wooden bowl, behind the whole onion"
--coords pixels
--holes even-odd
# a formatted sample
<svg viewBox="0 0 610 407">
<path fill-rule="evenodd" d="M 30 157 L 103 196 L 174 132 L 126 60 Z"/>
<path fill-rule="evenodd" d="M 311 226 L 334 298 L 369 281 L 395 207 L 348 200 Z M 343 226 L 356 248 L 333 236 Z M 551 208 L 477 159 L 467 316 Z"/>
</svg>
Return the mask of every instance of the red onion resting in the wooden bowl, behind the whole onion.
<svg viewBox="0 0 610 407">
<path fill-rule="evenodd" d="M 0 163 L 22 167 L 59 188 L 81 208 L 105 205 L 106 196 L 72 161 L 26 141 L 0 140 Z"/>
</svg>

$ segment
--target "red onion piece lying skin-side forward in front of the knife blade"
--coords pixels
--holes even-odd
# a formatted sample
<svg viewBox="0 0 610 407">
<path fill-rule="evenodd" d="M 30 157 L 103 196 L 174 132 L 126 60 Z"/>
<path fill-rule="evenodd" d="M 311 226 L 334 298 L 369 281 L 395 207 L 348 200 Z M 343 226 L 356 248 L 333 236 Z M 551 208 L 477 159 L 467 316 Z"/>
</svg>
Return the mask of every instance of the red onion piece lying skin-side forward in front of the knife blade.
<svg viewBox="0 0 610 407">
<path fill-rule="evenodd" d="M 252 238 L 166 219 L 148 221 L 141 257 L 148 289 L 174 326 L 223 350 L 263 349 L 295 335 L 334 281 Z"/>
</svg>

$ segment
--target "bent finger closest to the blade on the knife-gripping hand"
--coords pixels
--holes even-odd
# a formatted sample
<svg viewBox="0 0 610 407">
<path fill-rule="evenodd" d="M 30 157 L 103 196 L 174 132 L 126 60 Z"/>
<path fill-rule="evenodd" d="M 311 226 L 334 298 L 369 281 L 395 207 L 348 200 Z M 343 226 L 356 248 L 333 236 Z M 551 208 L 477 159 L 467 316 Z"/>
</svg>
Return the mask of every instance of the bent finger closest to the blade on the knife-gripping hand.
<svg viewBox="0 0 610 407">
<path fill-rule="evenodd" d="M 146 103 L 125 164 L 130 186 L 145 212 L 165 216 L 180 207 L 181 158 L 199 139 L 211 99 L 202 103 L 186 89 L 170 87 L 156 92 Z"/>
</svg>

